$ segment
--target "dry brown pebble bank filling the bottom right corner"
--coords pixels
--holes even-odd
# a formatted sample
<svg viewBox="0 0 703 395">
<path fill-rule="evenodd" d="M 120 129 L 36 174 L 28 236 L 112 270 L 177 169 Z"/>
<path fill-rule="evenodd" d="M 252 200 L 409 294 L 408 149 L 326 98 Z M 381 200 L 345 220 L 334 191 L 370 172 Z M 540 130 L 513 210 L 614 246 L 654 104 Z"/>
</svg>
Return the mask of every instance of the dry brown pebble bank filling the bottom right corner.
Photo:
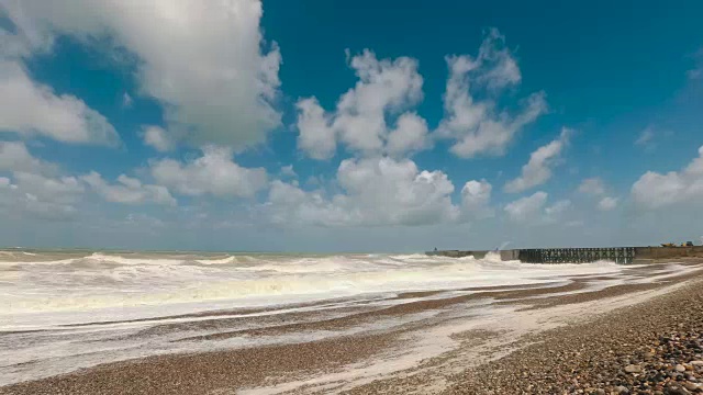
<svg viewBox="0 0 703 395">
<path fill-rule="evenodd" d="M 532 345 L 464 372 L 445 393 L 703 393 L 703 365 L 690 364 L 703 359 L 703 278 L 524 341 Z"/>
</svg>

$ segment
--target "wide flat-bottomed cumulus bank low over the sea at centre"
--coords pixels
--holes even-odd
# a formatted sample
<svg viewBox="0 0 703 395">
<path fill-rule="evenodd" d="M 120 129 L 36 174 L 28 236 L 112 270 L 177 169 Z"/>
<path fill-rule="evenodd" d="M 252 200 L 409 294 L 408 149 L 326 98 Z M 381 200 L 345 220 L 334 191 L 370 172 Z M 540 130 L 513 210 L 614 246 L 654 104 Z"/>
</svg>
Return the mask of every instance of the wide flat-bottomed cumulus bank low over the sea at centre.
<svg viewBox="0 0 703 395">
<path fill-rule="evenodd" d="M 347 159 L 339 165 L 336 181 L 342 192 L 327 194 L 276 180 L 263 210 L 276 224 L 320 226 L 412 226 L 492 214 L 487 181 L 467 182 L 461 204 L 454 204 L 447 174 L 421 171 L 409 159 Z"/>
</svg>

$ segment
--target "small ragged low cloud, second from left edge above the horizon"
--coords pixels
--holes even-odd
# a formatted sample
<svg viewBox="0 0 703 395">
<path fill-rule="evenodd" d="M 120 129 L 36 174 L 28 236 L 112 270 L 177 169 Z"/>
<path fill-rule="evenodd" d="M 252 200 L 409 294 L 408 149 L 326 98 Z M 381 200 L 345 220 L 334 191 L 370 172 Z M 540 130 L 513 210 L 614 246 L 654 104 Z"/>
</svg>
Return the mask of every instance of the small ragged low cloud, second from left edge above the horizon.
<svg viewBox="0 0 703 395">
<path fill-rule="evenodd" d="M 82 176 L 81 180 L 108 202 L 122 204 L 157 203 L 171 206 L 177 203 L 165 187 L 143 184 L 142 181 L 125 174 L 118 177 L 116 184 L 109 184 L 96 171 Z"/>
</svg>

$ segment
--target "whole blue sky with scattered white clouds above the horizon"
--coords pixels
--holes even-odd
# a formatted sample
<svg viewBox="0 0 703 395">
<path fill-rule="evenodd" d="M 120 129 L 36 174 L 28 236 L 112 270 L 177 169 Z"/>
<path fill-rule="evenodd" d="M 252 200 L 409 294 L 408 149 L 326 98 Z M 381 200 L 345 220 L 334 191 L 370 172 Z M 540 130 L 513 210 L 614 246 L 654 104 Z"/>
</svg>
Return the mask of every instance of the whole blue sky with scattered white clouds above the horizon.
<svg viewBox="0 0 703 395">
<path fill-rule="evenodd" d="M 0 246 L 701 242 L 702 12 L 0 0 Z"/>
</svg>

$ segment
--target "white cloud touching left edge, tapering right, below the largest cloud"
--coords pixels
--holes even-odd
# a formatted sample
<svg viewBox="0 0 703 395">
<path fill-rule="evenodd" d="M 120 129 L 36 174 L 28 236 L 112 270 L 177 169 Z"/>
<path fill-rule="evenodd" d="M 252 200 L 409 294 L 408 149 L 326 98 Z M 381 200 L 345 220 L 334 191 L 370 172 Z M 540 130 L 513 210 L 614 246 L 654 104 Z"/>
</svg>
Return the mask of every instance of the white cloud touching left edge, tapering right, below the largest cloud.
<svg viewBox="0 0 703 395">
<path fill-rule="evenodd" d="M 74 144 L 115 145 L 120 140 L 108 120 L 80 99 L 54 94 L 49 87 L 32 81 L 19 63 L 2 59 L 0 132 Z"/>
</svg>

